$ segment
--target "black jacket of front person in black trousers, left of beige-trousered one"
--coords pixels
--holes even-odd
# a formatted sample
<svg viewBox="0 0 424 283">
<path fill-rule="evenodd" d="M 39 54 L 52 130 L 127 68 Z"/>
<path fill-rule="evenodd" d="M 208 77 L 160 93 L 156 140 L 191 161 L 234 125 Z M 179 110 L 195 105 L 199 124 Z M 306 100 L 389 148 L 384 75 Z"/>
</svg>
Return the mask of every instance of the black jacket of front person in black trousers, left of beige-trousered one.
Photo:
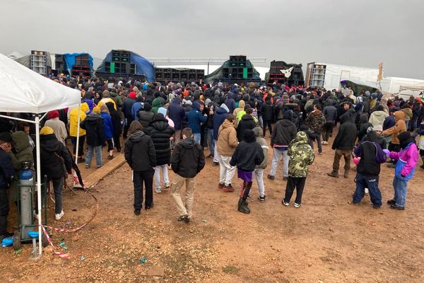
<svg viewBox="0 0 424 283">
<path fill-rule="evenodd" d="M 155 145 L 144 132 L 136 131 L 126 139 L 124 156 L 126 163 L 134 171 L 147 171 L 156 167 Z"/>
</svg>

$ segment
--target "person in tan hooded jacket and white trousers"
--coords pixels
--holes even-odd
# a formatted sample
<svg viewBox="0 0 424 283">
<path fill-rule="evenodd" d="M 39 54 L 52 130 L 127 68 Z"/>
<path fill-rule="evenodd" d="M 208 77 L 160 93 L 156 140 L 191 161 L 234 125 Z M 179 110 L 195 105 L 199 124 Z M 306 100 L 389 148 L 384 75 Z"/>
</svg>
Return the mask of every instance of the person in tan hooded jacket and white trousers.
<svg viewBox="0 0 424 283">
<path fill-rule="evenodd" d="M 234 115 L 228 114 L 223 124 L 219 127 L 218 141 L 216 143 L 220 166 L 218 189 L 222 189 L 225 192 L 234 191 L 231 181 L 235 174 L 235 166 L 230 166 L 231 156 L 238 144 L 234 121 Z"/>
</svg>

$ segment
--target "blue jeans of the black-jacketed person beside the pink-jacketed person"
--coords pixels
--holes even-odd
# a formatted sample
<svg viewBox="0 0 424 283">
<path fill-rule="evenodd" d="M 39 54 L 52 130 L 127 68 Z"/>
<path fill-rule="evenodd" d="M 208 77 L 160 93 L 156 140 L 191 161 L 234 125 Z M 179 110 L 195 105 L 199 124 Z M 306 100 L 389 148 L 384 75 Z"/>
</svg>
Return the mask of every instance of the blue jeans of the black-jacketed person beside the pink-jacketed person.
<svg viewBox="0 0 424 283">
<path fill-rule="evenodd" d="M 365 187 L 370 190 L 370 199 L 373 205 L 382 205 L 382 193 L 378 188 L 379 176 L 366 176 L 356 173 L 356 190 L 353 194 L 353 203 L 358 204 L 365 195 Z"/>
</svg>

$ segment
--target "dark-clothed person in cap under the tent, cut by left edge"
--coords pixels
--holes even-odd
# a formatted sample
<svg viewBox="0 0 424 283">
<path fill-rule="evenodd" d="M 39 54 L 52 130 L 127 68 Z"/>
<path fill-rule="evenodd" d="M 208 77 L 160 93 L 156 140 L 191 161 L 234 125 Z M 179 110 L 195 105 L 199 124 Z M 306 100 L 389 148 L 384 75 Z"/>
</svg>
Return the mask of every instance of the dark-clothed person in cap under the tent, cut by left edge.
<svg viewBox="0 0 424 283">
<path fill-rule="evenodd" d="M 13 236 L 13 233 L 7 231 L 8 206 L 8 187 L 11 178 L 15 175 L 15 169 L 12 165 L 10 156 L 12 151 L 12 137 L 8 132 L 0 133 L 0 241 L 3 238 Z"/>
</svg>

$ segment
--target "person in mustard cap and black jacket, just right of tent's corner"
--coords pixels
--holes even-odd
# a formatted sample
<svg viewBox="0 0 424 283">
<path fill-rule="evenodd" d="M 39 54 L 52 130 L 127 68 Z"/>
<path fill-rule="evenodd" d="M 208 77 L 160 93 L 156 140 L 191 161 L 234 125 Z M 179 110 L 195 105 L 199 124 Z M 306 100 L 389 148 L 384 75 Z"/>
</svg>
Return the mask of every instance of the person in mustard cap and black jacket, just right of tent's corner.
<svg viewBox="0 0 424 283">
<path fill-rule="evenodd" d="M 103 119 L 100 116 L 100 108 L 96 106 L 93 112 L 87 115 L 86 119 L 81 123 L 81 128 L 87 131 L 87 156 L 86 168 L 90 168 L 91 159 L 95 153 L 97 168 L 102 167 L 102 144 L 105 143 L 105 127 Z"/>
</svg>

